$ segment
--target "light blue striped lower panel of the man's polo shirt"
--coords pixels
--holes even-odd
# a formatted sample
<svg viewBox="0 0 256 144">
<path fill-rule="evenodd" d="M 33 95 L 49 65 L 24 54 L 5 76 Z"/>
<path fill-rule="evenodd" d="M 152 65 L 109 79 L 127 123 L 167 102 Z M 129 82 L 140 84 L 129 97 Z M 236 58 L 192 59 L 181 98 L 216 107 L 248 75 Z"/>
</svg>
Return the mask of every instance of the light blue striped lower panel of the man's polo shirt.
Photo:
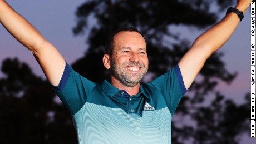
<svg viewBox="0 0 256 144">
<path fill-rule="evenodd" d="M 171 114 L 167 107 L 142 111 L 142 117 L 121 108 L 94 103 L 73 115 L 79 143 L 171 143 Z"/>
</svg>

